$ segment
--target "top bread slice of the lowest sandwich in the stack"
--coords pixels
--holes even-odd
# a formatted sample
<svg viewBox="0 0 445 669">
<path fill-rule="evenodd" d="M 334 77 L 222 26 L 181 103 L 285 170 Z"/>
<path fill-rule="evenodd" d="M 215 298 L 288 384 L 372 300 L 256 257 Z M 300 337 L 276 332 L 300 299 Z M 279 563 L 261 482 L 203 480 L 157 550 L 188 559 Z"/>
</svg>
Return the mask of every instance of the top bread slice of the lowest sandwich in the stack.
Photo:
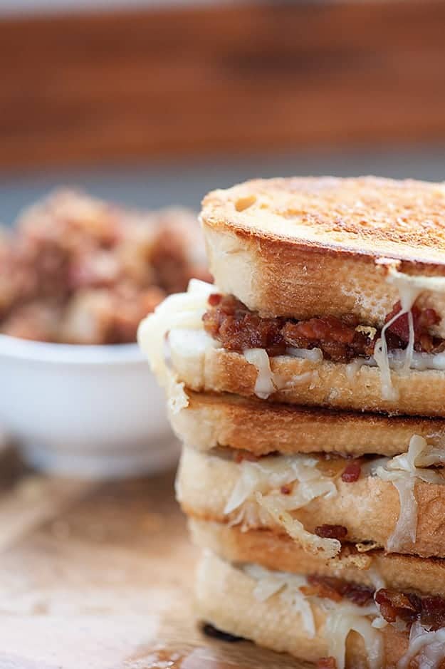
<svg viewBox="0 0 445 669">
<path fill-rule="evenodd" d="M 445 597 L 444 559 L 385 554 L 382 550 L 359 553 L 349 544 L 338 558 L 326 560 L 303 551 L 289 536 L 267 529 L 242 531 L 194 517 L 189 517 L 188 524 L 194 544 L 226 562 L 254 563 L 272 571 L 335 576 L 370 587 Z M 377 578 L 384 585 L 377 586 Z"/>
</svg>

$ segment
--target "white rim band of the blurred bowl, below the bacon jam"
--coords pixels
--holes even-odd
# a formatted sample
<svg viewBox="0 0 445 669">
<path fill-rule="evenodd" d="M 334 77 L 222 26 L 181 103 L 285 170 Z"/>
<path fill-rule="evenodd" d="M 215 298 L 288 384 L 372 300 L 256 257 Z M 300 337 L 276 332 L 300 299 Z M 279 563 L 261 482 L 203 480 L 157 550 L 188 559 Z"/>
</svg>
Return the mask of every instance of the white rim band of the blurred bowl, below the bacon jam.
<svg viewBox="0 0 445 669">
<path fill-rule="evenodd" d="M 74 365 L 119 365 L 145 362 L 137 343 L 63 344 L 0 334 L 0 356 L 22 361 Z"/>
</svg>

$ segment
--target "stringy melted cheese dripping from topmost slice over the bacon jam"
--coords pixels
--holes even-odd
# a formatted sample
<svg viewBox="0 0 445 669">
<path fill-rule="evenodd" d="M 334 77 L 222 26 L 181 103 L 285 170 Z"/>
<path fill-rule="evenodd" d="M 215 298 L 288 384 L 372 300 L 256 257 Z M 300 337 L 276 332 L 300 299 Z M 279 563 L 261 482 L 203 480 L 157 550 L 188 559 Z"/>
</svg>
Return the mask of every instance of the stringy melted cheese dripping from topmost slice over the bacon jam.
<svg viewBox="0 0 445 669">
<path fill-rule="evenodd" d="M 379 339 L 374 348 L 374 359 L 379 366 L 381 375 L 382 398 L 384 400 L 397 400 L 397 390 L 392 385 L 391 371 L 388 360 L 388 347 L 386 341 L 387 329 L 392 326 L 401 316 L 408 315 L 409 339 L 405 350 L 404 364 L 399 371 L 407 374 L 412 365 L 414 353 L 414 320 L 412 317 L 412 306 L 421 293 L 445 292 L 445 276 L 410 276 L 397 271 L 394 265 L 388 268 L 387 281 L 393 284 L 399 291 L 401 309 L 387 323 L 384 324 Z"/>
</svg>

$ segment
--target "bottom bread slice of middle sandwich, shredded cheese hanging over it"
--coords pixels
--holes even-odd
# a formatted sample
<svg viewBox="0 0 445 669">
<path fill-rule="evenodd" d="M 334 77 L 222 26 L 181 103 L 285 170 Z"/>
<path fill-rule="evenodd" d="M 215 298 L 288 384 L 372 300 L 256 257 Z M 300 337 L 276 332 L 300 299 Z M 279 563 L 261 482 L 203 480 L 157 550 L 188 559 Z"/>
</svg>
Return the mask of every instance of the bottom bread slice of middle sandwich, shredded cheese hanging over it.
<svg viewBox="0 0 445 669">
<path fill-rule="evenodd" d="M 283 456 L 278 456 L 277 460 L 280 458 Z M 279 462 L 276 464 L 280 466 Z M 290 469 L 291 462 L 283 460 L 283 465 Z M 192 517 L 239 525 L 244 529 L 270 529 L 276 534 L 286 534 L 288 530 L 277 519 L 278 514 L 271 516 L 268 508 L 261 506 L 256 498 L 256 493 L 261 492 L 263 499 L 272 499 L 276 507 L 290 500 L 288 486 L 282 488 L 280 483 L 277 489 L 273 482 L 273 468 L 271 472 L 265 470 L 251 487 L 247 480 L 246 494 L 240 495 L 238 503 L 233 502 L 234 491 L 239 490 L 240 484 L 243 489 L 241 477 L 248 467 L 248 462 L 239 464 L 229 457 L 184 448 L 177 477 L 177 497 L 184 512 Z M 323 493 L 316 494 L 305 504 L 295 504 L 296 508 L 288 504 L 289 514 L 303 524 L 306 531 L 314 533 L 316 528 L 326 525 L 342 527 L 347 531 L 345 541 L 351 543 L 371 542 L 374 547 L 403 554 L 445 557 L 443 473 L 439 483 L 413 479 L 412 494 L 417 505 L 410 506 L 412 497 L 407 489 L 401 507 L 399 492 L 392 481 L 364 473 L 356 482 L 345 482 L 341 478 L 344 468 L 344 462 L 320 457 L 318 472 L 327 477 L 333 483 L 331 488 L 335 489 L 328 492 L 326 479 L 318 479 L 315 485 L 321 480 Z M 250 476 L 249 472 L 247 474 Z M 296 492 L 301 481 L 303 486 L 305 483 L 305 479 L 298 476 L 290 472 L 290 479 L 296 482 Z M 310 492 L 311 486 L 312 482 L 309 487 L 305 486 L 305 490 Z M 291 492 L 293 490 L 291 487 Z M 399 519 L 401 523 L 397 526 Z M 299 542 L 300 538 L 296 537 L 295 541 Z"/>
</svg>

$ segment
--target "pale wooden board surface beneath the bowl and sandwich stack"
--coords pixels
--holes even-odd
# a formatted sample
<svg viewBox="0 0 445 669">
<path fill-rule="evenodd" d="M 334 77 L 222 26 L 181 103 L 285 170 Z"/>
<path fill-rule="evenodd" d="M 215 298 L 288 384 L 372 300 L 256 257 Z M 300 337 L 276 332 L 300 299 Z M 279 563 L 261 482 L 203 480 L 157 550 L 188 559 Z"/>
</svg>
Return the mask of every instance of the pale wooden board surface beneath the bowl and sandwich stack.
<svg viewBox="0 0 445 669">
<path fill-rule="evenodd" d="M 174 474 L 79 482 L 0 467 L 0 669 L 300 669 L 202 633 Z"/>
</svg>

